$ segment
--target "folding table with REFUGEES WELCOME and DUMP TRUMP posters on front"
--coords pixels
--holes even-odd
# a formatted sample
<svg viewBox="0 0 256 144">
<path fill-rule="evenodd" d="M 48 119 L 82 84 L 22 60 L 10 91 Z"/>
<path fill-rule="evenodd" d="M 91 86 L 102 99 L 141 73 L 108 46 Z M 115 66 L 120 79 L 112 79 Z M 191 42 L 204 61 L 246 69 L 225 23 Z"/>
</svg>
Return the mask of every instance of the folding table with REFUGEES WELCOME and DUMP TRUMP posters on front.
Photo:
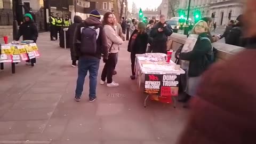
<svg viewBox="0 0 256 144">
<path fill-rule="evenodd" d="M 135 74 L 139 88 L 147 94 L 144 107 L 147 106 L 148 98 L 173 103 L 176 107 L 175 97 L 179 94 L 180 75 L 185 74 L 180 65 L 174 63 L 164 53 L 137 54 Z"/>
</svg>

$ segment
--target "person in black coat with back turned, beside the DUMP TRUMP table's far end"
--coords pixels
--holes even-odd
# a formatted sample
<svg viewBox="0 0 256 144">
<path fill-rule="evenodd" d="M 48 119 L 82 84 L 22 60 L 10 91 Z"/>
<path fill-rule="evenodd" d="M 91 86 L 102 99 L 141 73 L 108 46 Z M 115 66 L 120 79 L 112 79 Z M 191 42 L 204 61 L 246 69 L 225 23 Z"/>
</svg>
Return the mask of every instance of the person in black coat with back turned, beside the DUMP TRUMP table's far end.
<svg viewBox="0 0 256 144">
<path fill-rule="evenodd" d="M 131 35 L 128 51 L 131 52 L 131 62 L 132 62 L 132 76 L 131 79 L 135 79 L 135 55 L 146 53 L 148 44 L 148 34 L 146 32 L 146 26 L 143 22 L 138 24 L 138 29 L 135 29 Z"/>
</svg>

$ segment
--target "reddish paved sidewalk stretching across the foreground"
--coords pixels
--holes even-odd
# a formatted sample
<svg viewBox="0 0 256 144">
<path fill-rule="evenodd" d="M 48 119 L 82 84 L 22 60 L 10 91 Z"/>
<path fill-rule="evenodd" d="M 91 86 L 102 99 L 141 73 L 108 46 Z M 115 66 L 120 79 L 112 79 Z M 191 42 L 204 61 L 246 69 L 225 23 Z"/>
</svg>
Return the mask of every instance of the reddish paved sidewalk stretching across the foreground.
<svg viewBox="0 0 256 144">
<path fill-rule="evenodd" d="M 0 71 L 0 143 L 172 144 L 187 119 L 181 105 L 151 101 L 130 79 L 127 42 L 121 47 L 114 80 L 119 87 L 98 85 L 97 101 L 89 103 L 88 77 L 81 102 L 74 101 L 77 68 L 70 50 L 39 34 L 42 57 L 34 68 L 19 63 Z M 101 63 L 99 75 L 103 63 Z"/>
</svg>

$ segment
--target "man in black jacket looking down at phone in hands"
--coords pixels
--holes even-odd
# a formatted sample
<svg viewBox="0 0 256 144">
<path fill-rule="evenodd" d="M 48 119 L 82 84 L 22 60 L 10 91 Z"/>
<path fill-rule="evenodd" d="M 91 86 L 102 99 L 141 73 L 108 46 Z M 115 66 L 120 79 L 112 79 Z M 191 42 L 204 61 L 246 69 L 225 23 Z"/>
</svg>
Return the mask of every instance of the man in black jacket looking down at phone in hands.
<svg viewBox="0 0 256 144">
<path fill-rule="evenodd" d="M 153 38 L 153 52 L 167 53 L 167 39 L 173 33 L 172 28 L 167 26 L 165 16 L 160 15 L 160 21 L 150 31 L 150 37 Z"/>
</svg>

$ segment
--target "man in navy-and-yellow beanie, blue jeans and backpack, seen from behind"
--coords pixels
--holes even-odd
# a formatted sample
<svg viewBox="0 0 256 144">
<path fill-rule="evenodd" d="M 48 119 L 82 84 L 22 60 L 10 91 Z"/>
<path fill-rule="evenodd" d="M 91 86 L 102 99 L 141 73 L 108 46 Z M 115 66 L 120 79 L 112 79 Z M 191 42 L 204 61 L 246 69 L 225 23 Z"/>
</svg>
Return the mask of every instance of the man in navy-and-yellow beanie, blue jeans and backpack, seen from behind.
<svg viewBox="0 0 256 144">
<path fill-rule="evenodd" d="M 89 71 L 89 101 L 93 102 L 97 98 L 96 87 L 101 54 L 105 61 L 108 59 L 107 36 L 100 22 L 100 13 L 97 10 L 91 11 L 90 17 L 77 26 L 74 43 L 79 45 L 75 47 L 79 56 L 75 100 L 80 101 L 84 79 Z"/>
</svg>

